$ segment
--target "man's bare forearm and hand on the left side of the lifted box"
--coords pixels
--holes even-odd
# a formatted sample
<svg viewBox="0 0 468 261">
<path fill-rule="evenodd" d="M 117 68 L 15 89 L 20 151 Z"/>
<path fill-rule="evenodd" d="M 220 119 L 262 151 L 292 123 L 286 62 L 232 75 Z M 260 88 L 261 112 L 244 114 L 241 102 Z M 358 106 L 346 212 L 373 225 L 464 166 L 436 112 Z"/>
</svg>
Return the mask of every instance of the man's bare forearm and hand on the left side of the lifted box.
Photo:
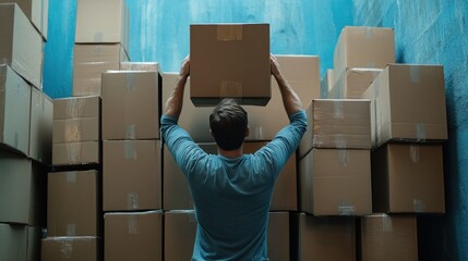
<svg viewBox="0 0 468 261">
<path fill-rule="evenodd" d="M 185 88 L 187 78 L 190 75 L 190 57 L 188 55 L 183 62 L 179 72 L 179 79 L 177 80 L 176 87 L 170 94 L 166 101 L 165 114 L 179 119 L 180 112 L 182 111 L 183 103 L 183 90 Z"/>
</svg>

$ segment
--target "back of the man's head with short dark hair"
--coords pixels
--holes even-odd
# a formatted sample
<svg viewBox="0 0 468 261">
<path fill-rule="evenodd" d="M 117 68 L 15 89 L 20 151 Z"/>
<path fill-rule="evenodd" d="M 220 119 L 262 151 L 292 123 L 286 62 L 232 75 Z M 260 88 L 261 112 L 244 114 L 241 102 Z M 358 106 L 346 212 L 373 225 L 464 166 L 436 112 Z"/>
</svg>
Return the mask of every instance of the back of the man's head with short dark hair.
<svg viewBox="0 0 468 261">
<path fill-rule="evenodd" d="M 248 116 L 235 99 L 223 99 L 209 114 L 209 128 L 223 150 L 239 149 L 245 138 Z"/>
</svg>

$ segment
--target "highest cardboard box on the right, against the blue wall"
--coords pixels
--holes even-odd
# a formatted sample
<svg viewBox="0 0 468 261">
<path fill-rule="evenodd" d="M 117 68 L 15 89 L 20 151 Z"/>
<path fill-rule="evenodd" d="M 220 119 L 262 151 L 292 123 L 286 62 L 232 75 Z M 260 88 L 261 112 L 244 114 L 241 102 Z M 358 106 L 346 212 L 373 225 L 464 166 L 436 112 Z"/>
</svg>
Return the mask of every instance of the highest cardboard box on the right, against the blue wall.
<svg viewBox="0 0 468 261">
<path fill-rule="evenodd" d="M 395 35 L 392 28 L 345 26 L 334 52 L 335 77 L 347 69 L 384 69 L 395 63 Z"/>
</svg>

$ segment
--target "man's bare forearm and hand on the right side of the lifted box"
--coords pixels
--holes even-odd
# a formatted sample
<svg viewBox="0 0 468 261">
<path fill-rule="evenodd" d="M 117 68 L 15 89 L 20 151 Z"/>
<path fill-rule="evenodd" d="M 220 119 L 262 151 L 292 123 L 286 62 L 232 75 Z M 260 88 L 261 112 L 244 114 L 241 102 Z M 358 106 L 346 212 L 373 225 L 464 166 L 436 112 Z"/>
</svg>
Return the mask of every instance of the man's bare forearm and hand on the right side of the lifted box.
<svg viewBox="0 0 468 261">
<path fill-rule="evenodd" d="M 296 91 L 289 86 L 286 78 L 283 76 L 281 71 L 279 70 L 279 64 L 273 54 L 271 54 L 269 58 L 271 63 L 271 70 L 272 74 L 276 79 L 276 83 L 278 83 L 279 91 L 281 92 L 283 97 L 283 104 L 285 105 L 286 113 L 288 113 L 288 116 L 291 116 L 296 112 L 303 110 L 302 102 L 299 99 Z"/>
</svg>

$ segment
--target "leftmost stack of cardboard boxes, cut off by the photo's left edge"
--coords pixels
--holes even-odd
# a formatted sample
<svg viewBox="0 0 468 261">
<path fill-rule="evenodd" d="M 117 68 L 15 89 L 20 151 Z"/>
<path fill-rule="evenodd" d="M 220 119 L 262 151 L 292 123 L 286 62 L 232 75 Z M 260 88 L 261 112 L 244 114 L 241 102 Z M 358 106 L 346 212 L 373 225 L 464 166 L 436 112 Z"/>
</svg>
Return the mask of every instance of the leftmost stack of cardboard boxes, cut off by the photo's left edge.
<svg viewBox="0 0 468 261">
<path fill-rule="evenodd" d="M 47 1 L 0 1 L 0 260 L 38 260 L 52 102 L 43 88 Z"/>
</svg>

